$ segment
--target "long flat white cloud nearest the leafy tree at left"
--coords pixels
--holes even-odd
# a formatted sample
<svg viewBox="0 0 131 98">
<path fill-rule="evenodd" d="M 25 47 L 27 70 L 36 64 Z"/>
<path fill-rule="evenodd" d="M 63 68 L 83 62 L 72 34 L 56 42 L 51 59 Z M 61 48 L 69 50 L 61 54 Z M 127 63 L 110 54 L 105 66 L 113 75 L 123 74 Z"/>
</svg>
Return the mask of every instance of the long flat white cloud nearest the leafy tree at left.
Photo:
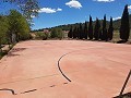
<svg viewBox="0 0 131 98">
<path fill-rule="evenodd" d="M 56 13 L 58 11 L 62 11 L 62 9 L 41 8 L 38 12 L 39 13 Z"/>
</svg>

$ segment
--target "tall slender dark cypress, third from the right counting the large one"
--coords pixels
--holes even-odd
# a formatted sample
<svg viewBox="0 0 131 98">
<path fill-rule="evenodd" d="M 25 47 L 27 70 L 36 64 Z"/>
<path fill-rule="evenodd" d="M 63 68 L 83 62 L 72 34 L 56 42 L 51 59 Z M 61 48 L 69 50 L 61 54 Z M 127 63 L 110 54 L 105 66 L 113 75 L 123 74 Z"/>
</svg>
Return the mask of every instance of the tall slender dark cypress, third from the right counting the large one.
<svg viewBox="0 0 131 98">
<path fill-rule="evenodd" d="M 103 21 L 103 35 L 102 35 L 102 40 L 107 40 L 108 35 L 107 35 L 107 28 L 106 28 L 106 14 L 104 15 L 104 21 Z"/>
</svg>

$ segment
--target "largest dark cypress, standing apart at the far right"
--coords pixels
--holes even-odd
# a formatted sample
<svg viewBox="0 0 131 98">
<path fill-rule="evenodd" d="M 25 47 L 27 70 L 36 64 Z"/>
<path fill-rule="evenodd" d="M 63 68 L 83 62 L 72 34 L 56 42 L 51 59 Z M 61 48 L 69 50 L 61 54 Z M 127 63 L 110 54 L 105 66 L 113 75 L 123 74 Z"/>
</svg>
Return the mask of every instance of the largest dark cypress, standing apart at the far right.
<svg viewBox="0 0 131 98">
<path fill-rule="evenodd" d="M 124 7 L 122 17 L 121 17 L 121 26 L 120 26 L 120 38 L 124 41 L 128 41 L 130 34 L 130 24 L 129 24 L 129 12 L 128 4 Z"/>
</svg>

